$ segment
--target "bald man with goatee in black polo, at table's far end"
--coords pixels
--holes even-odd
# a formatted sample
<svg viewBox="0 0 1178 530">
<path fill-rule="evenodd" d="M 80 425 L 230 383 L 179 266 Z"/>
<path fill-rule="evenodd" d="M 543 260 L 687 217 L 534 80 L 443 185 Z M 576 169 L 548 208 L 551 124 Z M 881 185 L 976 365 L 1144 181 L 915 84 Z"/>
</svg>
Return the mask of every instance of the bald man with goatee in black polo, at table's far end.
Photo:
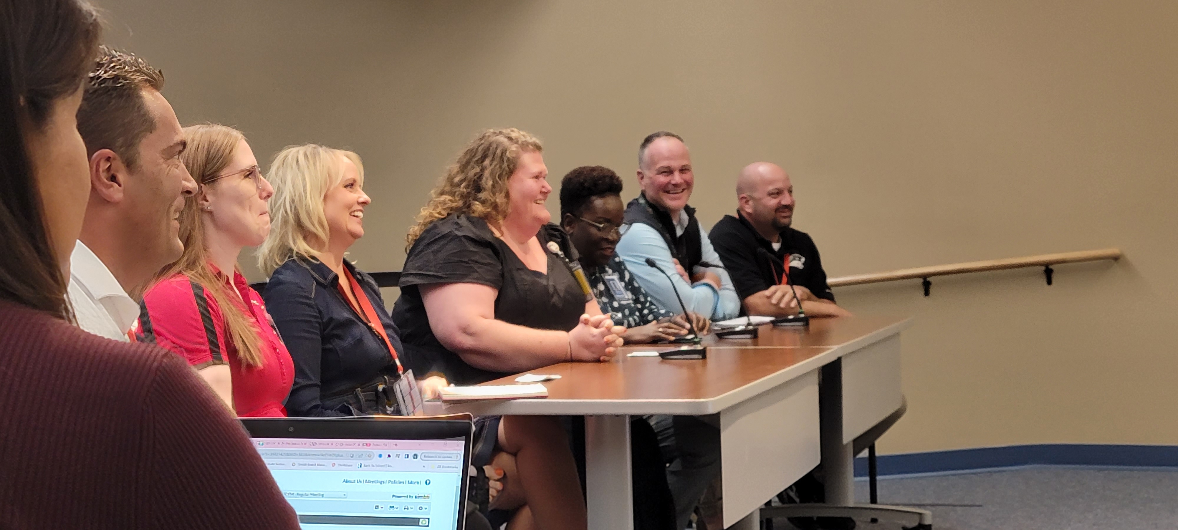
<svg viewBox="0 0 1178 530">
<path fill-rule="evenodd" d="M 851 314 L 834 303 L 814 240 L 794 230 L 794 185 L 776 164 L 744 166 L 736 179 L 736 216 L 708 234 L 748 314 Z M 793 285 L 793 289 L 788 284 Z M 798 299 L 794 299 L 794 292 Z"/>
</svg>

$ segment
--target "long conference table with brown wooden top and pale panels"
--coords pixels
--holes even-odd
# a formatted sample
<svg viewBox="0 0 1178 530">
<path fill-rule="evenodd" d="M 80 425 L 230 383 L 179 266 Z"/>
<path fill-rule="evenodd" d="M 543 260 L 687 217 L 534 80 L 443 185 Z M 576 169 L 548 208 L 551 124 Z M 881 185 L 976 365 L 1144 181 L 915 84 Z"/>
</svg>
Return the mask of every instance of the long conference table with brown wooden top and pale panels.
<svg viewBox="0 0 1178 530">
<path fill-rule="evenodd" d="M 866 316 L 814 319 L 808 329 L 766 324 L 754 339 L 708 336 L 703 360 L 628 357 L 660 346 L 627 346 L 609 363 L 532 370 L 561 376 L 544 383 L 548 398 L 458 403 L 446 411 L 585 416 L 593 530 L 633 529 L 629 416 L 635 415 L 715 415 L 724 528 L 748 524 L 746 516 L 819 462 L 827 503 L 846 506 L 854 502 L 852 442 L 904 403 L 900 332 L 909 325 L 911 319 Z M 515 384 L 515 377 L 487 384 Z"/>
</svg>

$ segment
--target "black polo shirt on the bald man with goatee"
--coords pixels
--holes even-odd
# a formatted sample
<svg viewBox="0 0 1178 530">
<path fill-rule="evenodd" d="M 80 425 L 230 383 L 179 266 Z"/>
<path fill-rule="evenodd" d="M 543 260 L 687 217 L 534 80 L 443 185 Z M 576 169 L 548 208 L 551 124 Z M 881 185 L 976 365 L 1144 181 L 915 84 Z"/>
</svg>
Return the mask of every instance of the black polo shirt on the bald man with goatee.
<svg viewBox="0 0 1178 530">
<path fill-rule="evenodd" d="M 815 297 L 834 302 L 818 247 L 806 232 L 788 227 L 782 230 L 781 247 L 773 250 L 773 244 L 736 212 L 736 217 L 720 219 L 712 227 L 708 239 L 724 263 L 724 269 L 728 269 L 741 300 L 779 284 L 788 256 L 789 283 L 809 289 Z"/>
</svg>

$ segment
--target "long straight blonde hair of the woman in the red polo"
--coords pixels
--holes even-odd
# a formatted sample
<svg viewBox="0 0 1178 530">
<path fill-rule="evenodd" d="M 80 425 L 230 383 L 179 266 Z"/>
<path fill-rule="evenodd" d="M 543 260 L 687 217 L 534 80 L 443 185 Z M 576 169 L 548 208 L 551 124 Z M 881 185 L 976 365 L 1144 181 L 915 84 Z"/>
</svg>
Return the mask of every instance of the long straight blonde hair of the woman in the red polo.
<svg viewBox="0 0 1178 530">
<path fill-rule="evenodd" d="M 224 125 L 193 125 L 184 127 L 184 138 L 188 147 L 180 154 L 180 160 L 201 186 L 196 196 L 184 200 L 180 211 L 180 241 L 184 253 L 180 259 L 165 265 L 152 280 L 152 284 L 174 274 L 185 274 L 211 296 L 221 310 L 225 319 L 225 334 L 237 347 L 237 357 L 243 366 L 262 366 L 262 330 L 253 319 L 246 316 L 244 303 L 238 294 L 230 292 L 221 278 L 209 266 L 209 250 L 205 247 L 204 218 L 200 214 L 198 200 L 204 193 L 204 186 L 221 174 L 237 152 L 237 145 L 245 140 L 240 131 Z M 233 271 L 221 271 L 232 278 Z M 231 279 L 232 281 L 232 279 Z"/>
</svg>

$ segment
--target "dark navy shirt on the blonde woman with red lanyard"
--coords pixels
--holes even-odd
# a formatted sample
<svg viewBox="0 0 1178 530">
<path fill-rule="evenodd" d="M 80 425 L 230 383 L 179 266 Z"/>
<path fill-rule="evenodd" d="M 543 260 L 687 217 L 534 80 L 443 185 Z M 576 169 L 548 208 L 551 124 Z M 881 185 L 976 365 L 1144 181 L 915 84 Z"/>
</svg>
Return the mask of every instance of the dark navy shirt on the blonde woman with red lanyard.
<svg viewBox="0 0 1178 530">
<path fill-rule="evenodd" d="M 344 266 L 372 303 L 389 342 L 408 366 L 410 359 L 384 309 L 380 289 L 346 260 Z M 262 298 L 294 360 L 287 415 L 352 416 L 345 404 L 352 390 L 380 376 L 397 376 L 389 346 L 344 299 L 339 277 L 331 267 L 311 259 L 289 259 L 274 270 Z"/>
</svg>

